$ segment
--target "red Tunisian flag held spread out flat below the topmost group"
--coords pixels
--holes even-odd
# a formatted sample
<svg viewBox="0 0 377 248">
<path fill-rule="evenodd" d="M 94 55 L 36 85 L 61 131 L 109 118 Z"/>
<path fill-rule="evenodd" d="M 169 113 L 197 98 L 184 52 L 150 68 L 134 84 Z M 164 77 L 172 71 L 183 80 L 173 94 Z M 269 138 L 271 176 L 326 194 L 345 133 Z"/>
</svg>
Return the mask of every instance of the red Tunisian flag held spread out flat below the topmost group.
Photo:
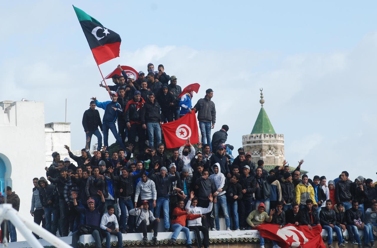
<svg viewBox="0 0 377 248">
<path fill-rule="evenodd" d="M 176 148 L 186 143 L 190 137 L 190 143 L 199 143 L 198 123 L 196 123 L 195 111 L 185 114 L 173 122 L 162 124 L 166 148 Z"/>
</svg>

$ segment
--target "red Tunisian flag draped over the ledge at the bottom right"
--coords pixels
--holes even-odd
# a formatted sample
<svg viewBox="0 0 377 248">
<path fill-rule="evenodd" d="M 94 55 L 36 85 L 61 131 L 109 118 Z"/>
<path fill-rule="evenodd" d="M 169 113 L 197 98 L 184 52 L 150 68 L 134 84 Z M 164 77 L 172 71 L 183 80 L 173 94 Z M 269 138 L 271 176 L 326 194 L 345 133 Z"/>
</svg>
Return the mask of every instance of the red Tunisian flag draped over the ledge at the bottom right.
<svg viewBox="0 0 377 248">
<path fill-rule="evenodd" d="M 279 229 L 279 225 L 262 224 L 256 229 L 262 237 L 278 242 L 281 248 L 326 248 L 321 236 L 321 226 L 315 226 L 310 231 L 306 225 L 289 224 Z"/>
</svg>

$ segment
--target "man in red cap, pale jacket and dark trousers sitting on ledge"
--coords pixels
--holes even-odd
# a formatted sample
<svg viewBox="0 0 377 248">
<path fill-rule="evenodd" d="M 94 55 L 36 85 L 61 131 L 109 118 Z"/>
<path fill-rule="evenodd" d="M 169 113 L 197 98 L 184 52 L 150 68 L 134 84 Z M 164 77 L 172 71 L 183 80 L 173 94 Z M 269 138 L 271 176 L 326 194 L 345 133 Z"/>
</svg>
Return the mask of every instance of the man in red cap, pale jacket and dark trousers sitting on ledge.
<svg viewBox="0 0 377 248">
<path fill-rule="evenodd" d="M 130 210 L 130 215 L 137 217 L 136 222 L 136 232 L 137 233 L 143 233 L 143 241 L 149 242 L 147 237 L 147 232 L 153 230 L 153 242 L 155 245 L 158 244 L 157 241 L 157 227 L 158 222 L 160 222 L 159 218 L 155 218 L 153 216 L 153 213 L 148 209 L 149 208 L 149 202 L 144 200 L 143 205 L 141 205 L 138 208 L 132 208 Z"/>
</svg>

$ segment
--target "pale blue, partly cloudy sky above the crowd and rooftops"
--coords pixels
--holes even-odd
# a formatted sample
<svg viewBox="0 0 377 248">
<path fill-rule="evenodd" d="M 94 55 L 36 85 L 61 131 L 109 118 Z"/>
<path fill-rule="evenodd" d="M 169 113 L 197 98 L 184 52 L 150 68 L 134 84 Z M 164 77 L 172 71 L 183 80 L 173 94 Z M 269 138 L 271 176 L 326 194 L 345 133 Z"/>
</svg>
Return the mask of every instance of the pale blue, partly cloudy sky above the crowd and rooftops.
<svg viewBox="0 0 377 248">
<path fill-rule="evenodd" d="M 376 179 L 376 2 L 2 3 L 0 101 L 43 101 L 49 123 L 64 122 L 67 99 L 70 145 L 79 150 L 90 97 L 109 96 L 72 4 L 122 38 L 120 57 L 100 65 L 104 75 L 118 64 L 145 72 L 152 62 L 182 88 L 199 83 L 194 104 L 212 88 L 214 131 L 227 124 L 235 149 L 253 129 L 262 87 L 290 166 L 303 159 L 310 178 L 347 170 L 352 180 Z"/>
</svg>

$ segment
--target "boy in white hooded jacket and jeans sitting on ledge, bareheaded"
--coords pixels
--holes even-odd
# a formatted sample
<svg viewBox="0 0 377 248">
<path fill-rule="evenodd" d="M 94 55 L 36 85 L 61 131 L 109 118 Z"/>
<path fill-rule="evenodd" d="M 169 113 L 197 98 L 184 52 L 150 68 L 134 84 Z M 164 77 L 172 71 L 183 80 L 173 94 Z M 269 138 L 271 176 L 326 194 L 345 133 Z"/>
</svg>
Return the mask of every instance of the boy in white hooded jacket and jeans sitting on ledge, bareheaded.
<svg viewBox="0 0 377 248">
<path fill-rule="evenodd" d="M 111 228 L 110 228 L 111 227 Z M 118 247 L 123 247 L 122 233 L 119 231 L 118 220 L 114 215 L 114 207 L 112 205 L 107 206 L 107 213 L 101 218 L 100 228 L 106 230 L 106 247 L 110 248 L 110 235 L 115 234 L 118 237 Z"/>
</svg>

